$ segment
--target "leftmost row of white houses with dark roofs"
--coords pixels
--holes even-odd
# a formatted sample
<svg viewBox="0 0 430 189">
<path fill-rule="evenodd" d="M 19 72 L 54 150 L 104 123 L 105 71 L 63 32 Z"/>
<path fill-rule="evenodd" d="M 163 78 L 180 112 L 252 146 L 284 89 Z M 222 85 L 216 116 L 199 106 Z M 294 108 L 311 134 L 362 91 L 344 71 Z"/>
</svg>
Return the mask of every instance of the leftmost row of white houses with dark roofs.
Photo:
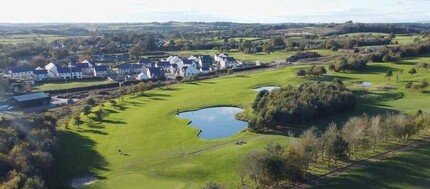
<svg viewBox="0 0 430 189">
<path fill-rule="evenodd" d="M 82 79 L 107 77 L 110 68 L 105 65 L 95 66 L 89 61 L 70 64 L 63 67 L 59 64 L 49 63 L 45 67 L 15 66 L 8 70 L 6 76 L 12 80 L 56 80 L 56 79 Z"/>
</svg>

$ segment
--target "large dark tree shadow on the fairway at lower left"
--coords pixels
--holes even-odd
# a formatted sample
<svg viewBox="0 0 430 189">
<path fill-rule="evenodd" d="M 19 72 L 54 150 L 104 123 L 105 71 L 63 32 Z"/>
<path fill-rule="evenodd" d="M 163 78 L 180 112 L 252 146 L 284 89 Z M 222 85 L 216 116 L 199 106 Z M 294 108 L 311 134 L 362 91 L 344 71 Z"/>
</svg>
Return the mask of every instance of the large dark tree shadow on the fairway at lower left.
<svg viewBox="0 0 430 189">
<path fill-rule="evenodd" d="M 96 172 L 108 170 L 106 160 L 94 149 L 96 142 L 71 131 L 59 131 L 59 151 L 47 176 L 48 188 L 70 188 L 72 179 L 93 175 L 106 179 Z"/>
</svg>

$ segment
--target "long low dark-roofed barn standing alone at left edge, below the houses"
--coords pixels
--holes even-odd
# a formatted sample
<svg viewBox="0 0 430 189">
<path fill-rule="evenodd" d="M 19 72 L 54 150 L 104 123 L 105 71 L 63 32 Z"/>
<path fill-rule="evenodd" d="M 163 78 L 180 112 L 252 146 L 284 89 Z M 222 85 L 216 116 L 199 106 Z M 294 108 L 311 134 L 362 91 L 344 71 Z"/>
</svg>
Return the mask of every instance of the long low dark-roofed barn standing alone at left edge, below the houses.
<svg viewBox="0 0 430 189">
<path fill-rule="evenodd" d="M 23 108 L 48 105 L 50 100 L 51 97 L 42 92 L 13 96 L 13 101 Z"/>
</svg>

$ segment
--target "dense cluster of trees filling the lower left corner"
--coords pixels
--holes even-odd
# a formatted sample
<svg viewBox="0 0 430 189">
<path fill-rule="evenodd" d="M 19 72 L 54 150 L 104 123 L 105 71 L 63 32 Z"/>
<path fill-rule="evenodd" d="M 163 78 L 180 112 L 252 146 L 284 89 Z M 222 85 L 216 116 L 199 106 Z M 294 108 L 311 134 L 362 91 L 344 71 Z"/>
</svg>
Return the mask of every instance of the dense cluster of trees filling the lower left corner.
<svg viewBox="0 0 430 189">
<path fill-rule="evenodd" d="M 52 115 L 0 121 L 2 188 L 46 188 L 44 179 L 58 148 L 57 119 Z"/>
</svg>

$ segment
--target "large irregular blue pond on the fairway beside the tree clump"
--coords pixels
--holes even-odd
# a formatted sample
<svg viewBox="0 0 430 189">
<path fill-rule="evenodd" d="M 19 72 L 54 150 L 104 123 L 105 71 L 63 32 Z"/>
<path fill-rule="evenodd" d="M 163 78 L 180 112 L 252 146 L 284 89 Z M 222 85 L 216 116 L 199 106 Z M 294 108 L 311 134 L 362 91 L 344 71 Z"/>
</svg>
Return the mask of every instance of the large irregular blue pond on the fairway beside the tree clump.
<svg viewBox="0 0 430 189">
<path fill-rule="evenodd" d="M 242 111 L 236 107 L 216 107 L 180 113 L 178 117 L 191 120 L 190 126 L 201 130 L 200 138 L 221 139 L 233 136 L 248 127 L 247 122 L 235 118 L 235 115 Z"/>
</svg>

